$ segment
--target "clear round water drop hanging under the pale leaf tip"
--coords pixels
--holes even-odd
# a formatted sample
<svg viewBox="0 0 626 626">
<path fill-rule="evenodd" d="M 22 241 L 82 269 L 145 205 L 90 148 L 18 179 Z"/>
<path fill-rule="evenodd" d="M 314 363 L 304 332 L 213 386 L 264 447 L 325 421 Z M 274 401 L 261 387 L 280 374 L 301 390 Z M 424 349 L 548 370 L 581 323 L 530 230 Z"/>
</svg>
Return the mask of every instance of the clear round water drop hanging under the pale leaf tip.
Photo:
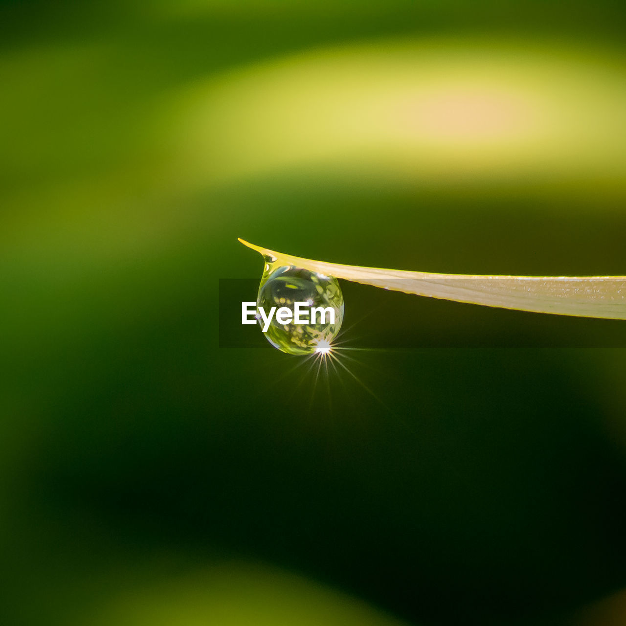
<svg viewBox="0 0 626 626">
<path fill-rule="evenodd" d="M 332 307 L 334 323 L 327 315 L 325 321 L 317 316 L 315 324 L 294 324 L 295 302 L 307 302 L 308 307 Z M 274 315 L 264 333 L 272 346 L 287 354 L 324 354 L 332 346 L 344 319 L 344 296 L 337 279 L 293 265 L 274 267 L 270 259 L 265 259 L 257 306 L 263 307 L 266 314 L 272 307 L 277 310 L 287 307 L 292 311 L 292 322 L 280 324 Z"/>
</svg>

